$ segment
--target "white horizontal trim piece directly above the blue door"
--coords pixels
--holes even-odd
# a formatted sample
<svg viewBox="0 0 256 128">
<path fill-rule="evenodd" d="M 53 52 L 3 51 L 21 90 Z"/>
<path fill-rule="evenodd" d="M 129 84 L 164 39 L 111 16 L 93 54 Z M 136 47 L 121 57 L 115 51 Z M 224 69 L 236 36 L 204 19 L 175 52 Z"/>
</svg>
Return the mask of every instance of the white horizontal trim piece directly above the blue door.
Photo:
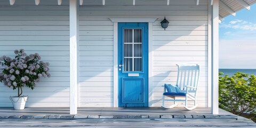
<svg viewBox="0 0 256 128">
<path fill-rule="evenodd" d="M 158 18 L 108 18 L 112 22 L 155 22 Z"/>
</svg>

